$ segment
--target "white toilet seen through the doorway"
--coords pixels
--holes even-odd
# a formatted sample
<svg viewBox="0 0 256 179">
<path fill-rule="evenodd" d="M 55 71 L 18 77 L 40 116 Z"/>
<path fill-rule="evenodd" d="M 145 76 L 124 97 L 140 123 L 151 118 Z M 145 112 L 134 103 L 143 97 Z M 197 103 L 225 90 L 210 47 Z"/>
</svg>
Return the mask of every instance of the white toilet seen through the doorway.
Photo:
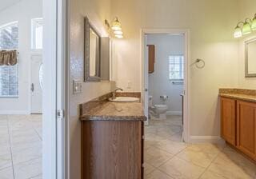
<svg viewBox="0 0 256 179">
<path fill-rule="evenodd" d="M 159 119 L 166 119 L 167 105 L 153 105 L 152 96 L 149 96 L 149 109 L 153 110 L 155 117 Z"/>
</svg>

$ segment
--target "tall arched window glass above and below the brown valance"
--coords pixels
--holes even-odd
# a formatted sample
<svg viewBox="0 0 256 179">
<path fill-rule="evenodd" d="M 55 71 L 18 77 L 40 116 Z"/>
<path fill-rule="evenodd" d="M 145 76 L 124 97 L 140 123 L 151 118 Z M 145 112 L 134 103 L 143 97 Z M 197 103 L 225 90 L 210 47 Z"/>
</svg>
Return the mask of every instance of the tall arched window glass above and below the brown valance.
<svg viewBox="0 0 256 179">
<path fill-rule="evenodd" d="M 0 26 L 0 50 L 18 49 L 18 22 Z M 0 66 L 0 97 L 18 97 L 18 64 Z"/>
</svg>

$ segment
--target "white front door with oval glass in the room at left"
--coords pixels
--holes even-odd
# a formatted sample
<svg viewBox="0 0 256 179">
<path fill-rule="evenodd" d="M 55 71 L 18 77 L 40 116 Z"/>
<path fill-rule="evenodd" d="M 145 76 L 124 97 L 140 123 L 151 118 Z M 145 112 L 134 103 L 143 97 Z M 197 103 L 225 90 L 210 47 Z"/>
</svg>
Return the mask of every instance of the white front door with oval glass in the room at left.
<svg viewBox="0 0 256 179">
<path fill-rule="evenodd" d="M 31 56 L 31 113 L 42 113 L 42 54 Z"/>
</svg>

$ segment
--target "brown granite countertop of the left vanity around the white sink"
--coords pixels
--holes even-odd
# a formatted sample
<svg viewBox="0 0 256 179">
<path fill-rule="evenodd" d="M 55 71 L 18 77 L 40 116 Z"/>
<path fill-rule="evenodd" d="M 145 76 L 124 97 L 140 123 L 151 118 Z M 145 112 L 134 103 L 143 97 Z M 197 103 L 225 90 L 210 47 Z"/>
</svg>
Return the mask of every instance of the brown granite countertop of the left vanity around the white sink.
<svg viewBox="0 0 256 179">
<path fill-rule="evenodd" d="M 140 102 L 113 102 L 101 97 L 80 105 L 81 121 L 146 121 Z"/>
</svg>

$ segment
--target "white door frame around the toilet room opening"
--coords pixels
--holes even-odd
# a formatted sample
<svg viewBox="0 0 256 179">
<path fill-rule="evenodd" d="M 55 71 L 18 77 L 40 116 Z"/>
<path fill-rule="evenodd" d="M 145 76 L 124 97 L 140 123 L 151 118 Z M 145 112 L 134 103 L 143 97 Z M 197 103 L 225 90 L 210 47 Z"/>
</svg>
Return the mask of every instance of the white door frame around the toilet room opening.
<svg viewBox="0 0 256 179">
<path fill-rule="evenodd" d="M 142 102 L 145 106 L 145 102 L 148 101 L 145 99 L 145 89 L 148 86 L 145 86 L 145 35 L 146 34 L 184 34 L 185 38 L 185 54 L 184 54 L 184 124 L 183 124 L 183 133 L 182 137 L 185 142 L 190 142 L 190 30 L 188 29 L 142 29 L 141 30 L 141 66 L 142 66 Z M 148 121 L 146 121 L 146 125 Z"/>
</svg>

